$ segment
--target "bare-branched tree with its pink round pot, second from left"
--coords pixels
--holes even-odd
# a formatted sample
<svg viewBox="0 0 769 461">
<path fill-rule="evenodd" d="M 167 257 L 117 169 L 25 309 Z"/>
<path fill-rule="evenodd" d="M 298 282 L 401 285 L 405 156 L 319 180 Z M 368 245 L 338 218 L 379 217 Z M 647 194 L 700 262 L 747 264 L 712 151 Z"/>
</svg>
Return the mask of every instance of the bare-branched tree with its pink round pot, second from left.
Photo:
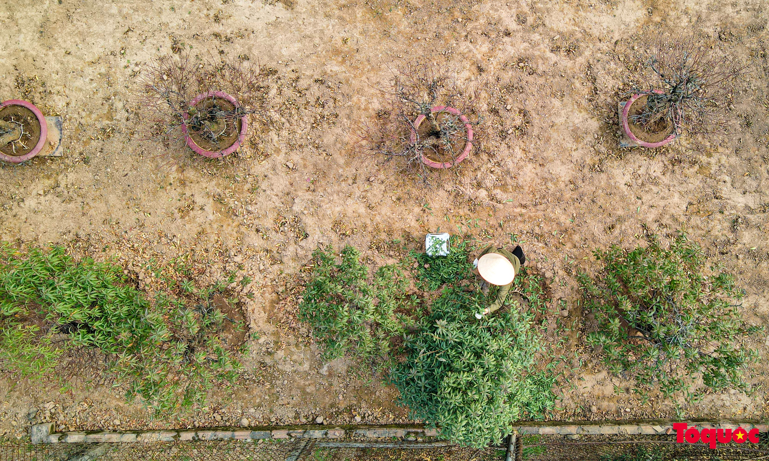
<svg viewBox="0 0 769 461">
<path fill-rule="evenodd" d="M 208 158 L 231 154 L 245 141 L 248 116 L 264 110 L 266 78 L 248 61 L 158 58 L 143 69 L 138 82 L 146 138 L 161 138 L 169 145 L 183 141 Z"/>
</svg>

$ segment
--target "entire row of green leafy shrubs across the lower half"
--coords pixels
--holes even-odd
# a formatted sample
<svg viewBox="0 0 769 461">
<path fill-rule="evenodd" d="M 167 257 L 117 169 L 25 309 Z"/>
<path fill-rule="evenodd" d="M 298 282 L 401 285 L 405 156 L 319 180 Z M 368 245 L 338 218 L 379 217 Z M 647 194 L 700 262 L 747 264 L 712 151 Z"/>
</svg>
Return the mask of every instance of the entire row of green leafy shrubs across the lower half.
<svg viewBox="0 0 769 461">
<path fill-rule="evenodd" d="M 545 363 L 554 357 L 542 339 L 547 300 L 541 278 L 523 267 L 513 291 L 528 308 L 512 301 L 476 319 L 488 299 L 471 277 L 474 249 L 467 240 L 451 245 L 449 257 L 412 251 L 371 277 L 358 250 L 318 248 L 300 313 L 327 359 L 378 363 L 412 416 L 458 443 L 484 446 L 515 420 L 553 408 L 555 376 Z M 611 371 L 635 379 L 641 393 L 697 398 L 704 388 L 745 387 L 741 370 L 757 354 L 741 341 L 761 328 L 741 319 L 744 291 L 731 274 L 706 267 L 701 247 L 678 234 L 667 245 L 649 237 L 642 247 L 594 255 L 593 274 L 577 272 L 580 302 L 598 321 L 586 339 Z M 98 350 L 128 399 L 158 411 L 188 407 L 237 379 L 240 364 L 211 303 L 221 289 L 195 290 L 187 280 L 150 299 L 116 264 L 76 260 L 62 247 L 2 244 L 0 368 L 54 376 L 62 356 Z M 704 386 L 693 385 L 698 378 Z"/>
</svg>

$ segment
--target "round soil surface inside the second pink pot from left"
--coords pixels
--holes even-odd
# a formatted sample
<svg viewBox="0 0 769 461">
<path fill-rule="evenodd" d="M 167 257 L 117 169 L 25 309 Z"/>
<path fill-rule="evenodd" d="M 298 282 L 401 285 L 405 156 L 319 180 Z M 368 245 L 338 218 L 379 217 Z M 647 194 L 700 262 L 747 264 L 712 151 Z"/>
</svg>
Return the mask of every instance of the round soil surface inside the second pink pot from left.
<svg viewBox="0 0 769 461">
<path fill-rule="evenodd" d="M 222 116 L 224 112 L 226 115 Z M 205 98 L 190 112 L 187 127 L 189 137 L 206 151 L 223 151 L 235 144 L 241 132 L 241 117 L 235 114 L 235 104 L 224 98 Z"/>
</svg>

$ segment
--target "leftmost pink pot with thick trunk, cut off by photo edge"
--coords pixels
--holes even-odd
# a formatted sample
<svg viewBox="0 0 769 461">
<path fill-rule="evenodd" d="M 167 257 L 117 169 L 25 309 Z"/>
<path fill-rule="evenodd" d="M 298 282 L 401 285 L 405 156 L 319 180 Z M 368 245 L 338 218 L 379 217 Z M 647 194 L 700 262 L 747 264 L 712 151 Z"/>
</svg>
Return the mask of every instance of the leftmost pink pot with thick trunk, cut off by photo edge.
<svg viewBox="0 0 769 461">
<path fill-rule="evenodd" d="M 0 103 L 0 160 L 22 163 L 45 146 L 48 124 L 40 109 L 21 99 Z"/>
</svg>

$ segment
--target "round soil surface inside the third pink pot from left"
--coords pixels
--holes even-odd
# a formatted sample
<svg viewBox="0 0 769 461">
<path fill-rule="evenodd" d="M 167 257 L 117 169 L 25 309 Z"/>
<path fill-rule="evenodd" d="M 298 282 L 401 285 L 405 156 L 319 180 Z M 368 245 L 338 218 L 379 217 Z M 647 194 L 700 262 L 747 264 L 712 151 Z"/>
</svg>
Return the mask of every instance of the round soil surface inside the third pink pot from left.
<svg viewBox="0 0 769 461">
<path fill-rule="evenodd" d="M 419 124 L 419 144 L 428 160 L 450 163 L 458 158 L 468 142 L 468 129 L 459 115 L 451 112 L 433 112 L 435 121 L 425 118 Z"/>
</svg>

